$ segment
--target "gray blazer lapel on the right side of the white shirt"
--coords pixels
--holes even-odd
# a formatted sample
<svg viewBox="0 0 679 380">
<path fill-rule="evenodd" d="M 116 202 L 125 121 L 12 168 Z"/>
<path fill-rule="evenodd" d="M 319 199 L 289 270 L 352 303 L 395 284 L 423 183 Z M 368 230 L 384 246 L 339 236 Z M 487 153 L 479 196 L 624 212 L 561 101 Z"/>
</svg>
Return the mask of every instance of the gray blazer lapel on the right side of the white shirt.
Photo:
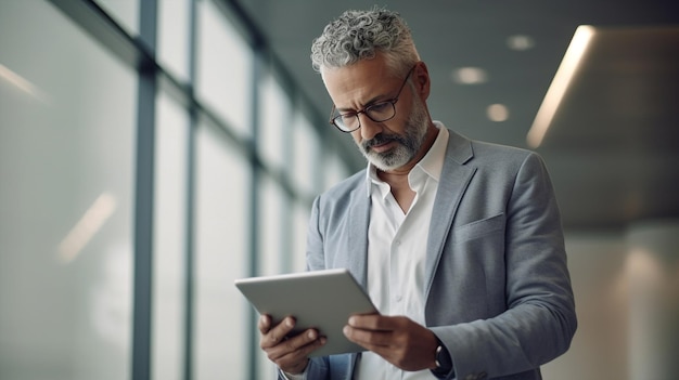
<svg viewBox="0 0 679 380">
<path fill-rule="evenodd" d="M 475 167 L 465 165 L 474 157 L 471 141 L 453 131 L 449 130 L 449 132 L 450 137 L 448 139 L 444 168 L 434 200 L 426 246 L 425 273 L 427 284 L 425 294 L 427 297 L 458 206 L 476 172 Z"/>
</svg>

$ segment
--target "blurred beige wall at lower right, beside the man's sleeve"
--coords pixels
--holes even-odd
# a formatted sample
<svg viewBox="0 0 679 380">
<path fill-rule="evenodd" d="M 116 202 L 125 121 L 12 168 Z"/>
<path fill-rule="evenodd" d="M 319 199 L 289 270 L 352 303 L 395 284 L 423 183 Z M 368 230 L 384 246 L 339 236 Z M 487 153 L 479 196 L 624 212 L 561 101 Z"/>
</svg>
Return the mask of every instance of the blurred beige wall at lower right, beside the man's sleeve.
<svg viewBox="0 0 679 380">
<path fill-rule="evenodd" d="M 679 221 L 566 233 L 579 327 L 546 379 L 669 380 L 679 372 Z"/>
</svg>

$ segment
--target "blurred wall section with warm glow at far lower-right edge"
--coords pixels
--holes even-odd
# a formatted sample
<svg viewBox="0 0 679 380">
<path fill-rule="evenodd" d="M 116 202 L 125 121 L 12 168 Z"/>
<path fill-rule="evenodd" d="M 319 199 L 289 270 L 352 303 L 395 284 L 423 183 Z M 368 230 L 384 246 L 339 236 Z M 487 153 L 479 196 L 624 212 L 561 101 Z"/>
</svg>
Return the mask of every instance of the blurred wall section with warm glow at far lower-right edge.
<svg viewBox="0 0 679 380">
<path fill-rule="evenodd" d="M 629 255 L 630 379 L 679 374 L 679 221 L 635 224 Z"/>
</svg>

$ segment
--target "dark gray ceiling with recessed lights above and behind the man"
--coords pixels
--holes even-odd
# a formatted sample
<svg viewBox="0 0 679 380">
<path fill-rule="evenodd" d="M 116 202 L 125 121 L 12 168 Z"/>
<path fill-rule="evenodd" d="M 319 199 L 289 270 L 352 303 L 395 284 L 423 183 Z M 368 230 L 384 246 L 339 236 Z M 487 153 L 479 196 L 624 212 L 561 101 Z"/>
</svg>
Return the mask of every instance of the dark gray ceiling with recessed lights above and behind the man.
<svg viewBox="0 0 679 380">
<path fill-rule="evenodd" d="M 324 114 L 310 43 L 367 1 L 243 0 L 293 79 Z M 679 12 L 674 0 L 394 0 L 432 77 L 434 119 L 477 140 L 531 148 L 550 170 L 566 228 L 625 228 L 679 218 Z M 526 135 L 579 25 L 594 27 L 541 145 Z M 523 36 L 527 50 L 508 40 Z M 527 37 L 524 38 L 524 37 Z M 453 70 L 482 68 L 461 84 Z M 560 70 L 561 71 L 561 70 Z M 504 105 L 504 121 L 487 108 Z M 348 136 L 343 136 L 347 139 Z M 362 159 L 356 154 L 357 161 Z M 363 163 L 359 163 L 363 165 Z"/>
</svg>

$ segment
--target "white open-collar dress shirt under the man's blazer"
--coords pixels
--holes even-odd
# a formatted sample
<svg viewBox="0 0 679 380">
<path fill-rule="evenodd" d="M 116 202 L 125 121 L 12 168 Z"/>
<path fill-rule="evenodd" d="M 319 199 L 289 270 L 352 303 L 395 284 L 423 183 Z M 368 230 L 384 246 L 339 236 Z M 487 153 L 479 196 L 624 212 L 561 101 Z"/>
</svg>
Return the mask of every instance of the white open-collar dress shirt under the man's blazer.
<svg viewBox="0 0 679 380">
<path fill-rule="evenodd" d="M 408 174 L 415 198 L 408 212 L 401 210 L 390 186 L 368 165 L 368 194 L 371 197 L 368 227 L 368 294 L 381 314 L 407 316 L 424 326 L 424 262 L 434 198 L 444 166 L 448 130 L 438 121 L 438 135 L 430 152 Z M 306 371 L 290 380 L 306 379 Z M 372 352 L 363 352 L 355 379 L 436 379 L 428 369 L 403 371 Z"/>
</svg>

